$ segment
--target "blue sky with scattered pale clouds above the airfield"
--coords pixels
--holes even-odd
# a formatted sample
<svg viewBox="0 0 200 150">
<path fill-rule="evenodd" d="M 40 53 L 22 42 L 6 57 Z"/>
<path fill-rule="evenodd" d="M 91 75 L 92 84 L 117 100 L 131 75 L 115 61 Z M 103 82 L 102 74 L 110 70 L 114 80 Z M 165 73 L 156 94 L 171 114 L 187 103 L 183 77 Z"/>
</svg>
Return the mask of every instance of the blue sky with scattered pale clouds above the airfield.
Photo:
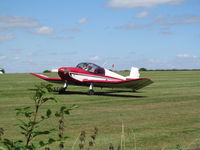
<svg viewBox="0 0 200 150">
<path fill-rule="evenodd" d="M 0 68 L 200 69 L 200 0 L 0 0 Z"/>
</svg>

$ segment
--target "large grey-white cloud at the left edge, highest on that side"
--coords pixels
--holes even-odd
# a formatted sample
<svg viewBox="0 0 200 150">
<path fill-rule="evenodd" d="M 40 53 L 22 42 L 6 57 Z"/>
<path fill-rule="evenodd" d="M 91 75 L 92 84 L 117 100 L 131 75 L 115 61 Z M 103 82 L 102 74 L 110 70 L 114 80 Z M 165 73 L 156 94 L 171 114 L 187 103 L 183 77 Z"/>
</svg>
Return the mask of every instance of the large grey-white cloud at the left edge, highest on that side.
<svg viewBox="0 0 200 150">
<path fill-rule="evenodd" d="M 37 25 L 38 21 L 32 18 L 0 14 L 0 30 L 35 27 Z"/>
</svg>

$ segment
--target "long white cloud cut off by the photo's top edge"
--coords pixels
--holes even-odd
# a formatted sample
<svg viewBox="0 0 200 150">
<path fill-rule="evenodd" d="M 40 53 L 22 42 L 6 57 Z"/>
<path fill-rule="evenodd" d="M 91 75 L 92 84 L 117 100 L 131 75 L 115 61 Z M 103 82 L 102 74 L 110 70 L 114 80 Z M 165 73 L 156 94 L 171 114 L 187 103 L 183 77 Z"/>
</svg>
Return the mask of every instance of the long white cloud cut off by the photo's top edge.
<svg viewBox="0 0 200 150">
<path fill-rule="evenodd" d="M 111 8 L 151 8 L 161 4 L 179 4 L 182 1 L 183 0 L 110 0 L 107 6 Z"/>
</svg>

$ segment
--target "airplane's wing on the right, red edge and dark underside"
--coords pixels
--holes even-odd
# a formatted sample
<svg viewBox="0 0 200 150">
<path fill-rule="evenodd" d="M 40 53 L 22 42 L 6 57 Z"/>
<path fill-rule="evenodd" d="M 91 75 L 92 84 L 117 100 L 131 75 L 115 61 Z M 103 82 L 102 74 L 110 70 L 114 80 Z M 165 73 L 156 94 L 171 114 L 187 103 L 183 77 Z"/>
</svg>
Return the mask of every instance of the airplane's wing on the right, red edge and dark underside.
<svg viewBox="0 0 200 150">
<path fill-rule="evenodd" d="M 84 80 L 83 83 L 85 84 L 94 83 L 94 86 L 98 87 L 129 88 L 138 90 L 153 83 L 153 81 L 148 78 L 138 78 L 138 79 L 129 79 L 122 81 Z"/>
</svg>

